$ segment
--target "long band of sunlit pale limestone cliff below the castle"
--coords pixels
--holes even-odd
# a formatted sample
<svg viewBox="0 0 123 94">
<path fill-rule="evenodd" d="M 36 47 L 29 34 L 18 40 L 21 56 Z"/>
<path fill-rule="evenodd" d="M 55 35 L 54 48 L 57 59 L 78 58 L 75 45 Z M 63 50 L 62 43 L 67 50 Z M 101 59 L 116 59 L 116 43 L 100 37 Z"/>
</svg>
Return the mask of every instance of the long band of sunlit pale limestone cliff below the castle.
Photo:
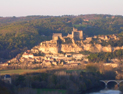
<svg viewBox="0 0 123 94">
<path fill-rule="evenodd" d="M 42 51 L 44 53 L 53 53 L 57 54 L 58 52 L 80 52 L 80 51 L 90 51 L 90 52 L 113 52 L 119 49 L 123 49 L 122 47 L 111 47 L 111 45 L 108 46 L 102 46 L 101 44 L 83 44 L 82 46 L 77 46 L 74 43 L 72 44 L 42 44 L 37 46 L 36 49 L 32 49 L 32 51 Z"/>
</svg>

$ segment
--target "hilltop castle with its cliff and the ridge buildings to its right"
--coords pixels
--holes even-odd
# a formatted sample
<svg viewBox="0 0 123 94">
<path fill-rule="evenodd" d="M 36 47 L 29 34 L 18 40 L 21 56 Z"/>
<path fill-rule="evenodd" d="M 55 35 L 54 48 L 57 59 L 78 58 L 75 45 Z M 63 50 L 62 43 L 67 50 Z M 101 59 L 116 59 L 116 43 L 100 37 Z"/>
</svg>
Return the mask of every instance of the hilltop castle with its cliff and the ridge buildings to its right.
<svg viewBox="0 0 123 94">
<path fill-rule="evenodd" d="M 92 41 L 96 41 L 92 43 Z M 67 36 L 62 36 L 62 33 L 53 33 L 52 40 L 41 42 L 40 45 L 35 46 L 31 49 L 32 52 L 44 52 L 57 54 L 58 52 L 80 52 L 80 51 L 90 51 L 90 52 L 113 52 L 118 49 L 123 49 L 122 47 L 111 47 L 102 46 L 102 41 L 108 42 L 109 40 L 119 40 L 116 35 L 102 35 L 83 38 L 83 31 L 78 31 L 73 28 L 72 34 Z"/>
</svg>

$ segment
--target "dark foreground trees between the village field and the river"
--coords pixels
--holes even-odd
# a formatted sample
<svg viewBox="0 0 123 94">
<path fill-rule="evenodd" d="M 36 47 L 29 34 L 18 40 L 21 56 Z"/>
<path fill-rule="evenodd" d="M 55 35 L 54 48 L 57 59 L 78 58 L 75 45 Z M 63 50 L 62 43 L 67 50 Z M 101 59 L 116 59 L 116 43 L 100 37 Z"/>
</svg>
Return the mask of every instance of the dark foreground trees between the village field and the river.
<svg viewBox="0 0 123 94">
<path fill-rule="evenodd" d="M 104 88 L 101 79 L 123 79 L 123 65 L 114 69 L 101 64 L 88 64 L 85 68 L 45 70 L 33 73 L 13 74 L 12 85 L 0 82 L 4 94 L 83 94 L 94 87 Z M 101 87 L 102 86 L 102 87 Z M 45 90 L 44 90 L 45 89 Z M 120 84 L 122 91 L 122 83 Z M 43 91 L 42 91 L 43 90 Z M 50 90 L 52 92 L 50 92 Z M 61 91 L 59 91 L 61 90 Z"/>
</svg>

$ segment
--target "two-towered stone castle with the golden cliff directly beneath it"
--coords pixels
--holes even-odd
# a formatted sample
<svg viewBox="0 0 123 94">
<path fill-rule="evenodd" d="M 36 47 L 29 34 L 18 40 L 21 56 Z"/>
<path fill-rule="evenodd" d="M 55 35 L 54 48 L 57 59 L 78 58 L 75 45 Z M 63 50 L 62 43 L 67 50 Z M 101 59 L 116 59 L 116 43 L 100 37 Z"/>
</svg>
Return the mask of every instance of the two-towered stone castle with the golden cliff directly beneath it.
<svg viewBox="0 0 123 94">
<path fill-rule="evenodd" d="M 58 39 L 61 39 L 63 42 L 66 39 L 69 39 L 72 43 L 71 44 L 58 44 Z M 36 52 L 42 51 L 44 53 L 53 53 L 57 54 L 58 52 L 79 52 L 82 50 L 81 47 L 78 47 L 75 44 L 75 41 L 81 41 L 83 39 L 83 31 L 78 31 L 77 29 L 73 28 L 72 34 L 68 34 L 67 36 L 62 36 L 62 33 L 53 33 L 52 40 L 41 42 L 39 46 L 35 46 L 32 51 Z"/>
</svg>

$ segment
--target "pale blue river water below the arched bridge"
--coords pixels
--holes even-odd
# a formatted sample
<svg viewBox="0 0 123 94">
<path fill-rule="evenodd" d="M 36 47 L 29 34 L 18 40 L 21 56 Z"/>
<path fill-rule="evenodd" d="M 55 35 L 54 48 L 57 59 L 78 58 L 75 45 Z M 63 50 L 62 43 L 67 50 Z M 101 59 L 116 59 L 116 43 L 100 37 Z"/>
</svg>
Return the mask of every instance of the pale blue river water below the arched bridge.
<svg viewBox="0 0 123 94">
<path fill-rule="evenodd" d="M 100 90 L 99 92 L 93 92 L 87 94 L 121 94 L 121 92 L 119 90 Z"/>
</svg>

